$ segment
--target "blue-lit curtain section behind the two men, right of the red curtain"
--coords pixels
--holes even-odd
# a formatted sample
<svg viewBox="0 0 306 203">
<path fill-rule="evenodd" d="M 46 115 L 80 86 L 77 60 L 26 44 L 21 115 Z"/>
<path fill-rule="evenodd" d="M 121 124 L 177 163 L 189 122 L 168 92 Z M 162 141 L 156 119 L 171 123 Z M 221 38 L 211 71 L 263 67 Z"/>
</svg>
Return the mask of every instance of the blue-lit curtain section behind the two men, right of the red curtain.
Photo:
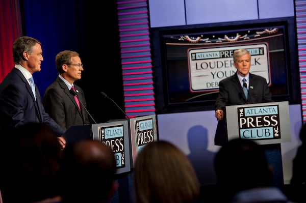
<svg viewBox="0 0 306 203">
<path fill-rule="evenodd" d="M 43 95 L 58 73 L 55 56 L 66 49 L 82 52 L 84 38 L 84 6 L 74 0 L 37 1 L 24 0 L 24 35 L 37 38 L 42 43 L 44 61 L 34 79 Z"/>
</svg>

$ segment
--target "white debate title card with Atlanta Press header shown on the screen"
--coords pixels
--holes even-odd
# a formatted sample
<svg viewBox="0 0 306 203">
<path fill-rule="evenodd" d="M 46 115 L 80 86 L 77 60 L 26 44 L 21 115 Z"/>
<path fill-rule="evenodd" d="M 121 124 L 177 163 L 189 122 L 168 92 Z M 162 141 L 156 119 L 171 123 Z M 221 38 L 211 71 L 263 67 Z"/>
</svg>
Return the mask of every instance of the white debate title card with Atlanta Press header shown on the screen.
<svg viewBox="0 0 306 203">
<path fill-rule="evenodd" d="M 247 49 L 251 54 L 251 70 L 266 78 L 270 85 L 269 46 L 267 43 L 250 43 L 238 46 L 216 46 L 188 49 L 188 71 L 191 92 L 219 89 L 219 82 L 236 73 L 233 54 L 236 49 Z"/>
</svg>

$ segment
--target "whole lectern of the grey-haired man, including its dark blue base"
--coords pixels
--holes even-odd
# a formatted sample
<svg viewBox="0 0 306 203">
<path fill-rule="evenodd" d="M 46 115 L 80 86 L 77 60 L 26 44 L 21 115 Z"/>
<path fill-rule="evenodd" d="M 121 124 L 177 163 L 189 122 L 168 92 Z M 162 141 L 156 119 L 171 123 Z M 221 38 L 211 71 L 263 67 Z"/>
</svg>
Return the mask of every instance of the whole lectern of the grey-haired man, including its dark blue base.
<svg viewBox="0 0 306 203">
<path fill-rule="evenodd" d="M 224 113 L 224 119 L 218 121 L 215 144 L 222 146 L 233 138 L 261 144 L 274 170 L 273 185 L 282 187 L 281 143 L 291 141 L 288 101 L 231 105 Z"/>
</svg>

